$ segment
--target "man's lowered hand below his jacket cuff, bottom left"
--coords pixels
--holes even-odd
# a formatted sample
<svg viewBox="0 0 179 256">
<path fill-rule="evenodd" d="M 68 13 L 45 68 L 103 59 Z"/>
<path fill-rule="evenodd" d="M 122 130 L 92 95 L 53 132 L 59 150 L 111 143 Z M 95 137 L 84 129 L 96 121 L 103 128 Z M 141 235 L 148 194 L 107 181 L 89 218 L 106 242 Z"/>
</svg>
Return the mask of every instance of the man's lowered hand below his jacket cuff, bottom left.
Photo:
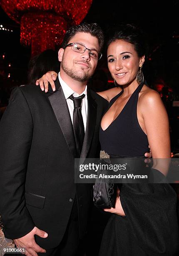
<svg viewBox="0 0 179 256">
<path fill-rule="evenodd" d="M 48 236 L 43 230 L 40 230 L 37 227 L 34 227 L 27 235 L 22 236 L 21 238 L 14 239 L 14 242 L 17 248 L 25 248 L 25 255 L 27 256 L 37 256 L 37 252 L 45 253 L 45 249 L 35 243 L 34 235 L 46 238 Z"/>
</svg>

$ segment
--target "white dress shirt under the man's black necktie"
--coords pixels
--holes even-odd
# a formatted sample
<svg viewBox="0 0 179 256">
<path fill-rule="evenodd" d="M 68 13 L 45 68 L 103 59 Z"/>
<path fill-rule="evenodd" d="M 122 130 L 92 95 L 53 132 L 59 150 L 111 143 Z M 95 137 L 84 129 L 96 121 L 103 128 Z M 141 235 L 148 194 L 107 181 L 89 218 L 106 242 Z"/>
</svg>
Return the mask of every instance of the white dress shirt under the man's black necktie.
<svg viewBox="0 0 179 256">
<path fill-rule="evenodd" d="M 82 118 L 83 118 L 84 128 L 85 128 L 85 131 L 86 131 L 86 125 L 87 125 L 87 108 L 88 108 L 88 103 L 87 103 L 87 85 L 86 85 L 86 87 L 85 87 L 85 90 L 84 90 L 81 94 L 78 94 L 77 92 L 74 92 L 74 91 L 72 90 L 72 88 L 70 88 L 70 87 L 62 80 L 62 78 L 60 77 L 60 72 L 58 73 L 58 78 L 59 78 L 59 81 L 60 81 L 60 84 L 61 84 L 63 93 L 64 93 L 64 95 L 65 95 L 65 99 L 66 99 L 66 101 L 67 101 L 67 105 L 68 105 L 68 109 L 69 109 L 69 112 L 70 112 L 70 117 L 71 117 L 72 123 L 73 123 L 74 104 L 73 104 L 73 101 L 69 99 L 69 97 L 70 97 L 70 95 L 73 95 L 73 97 L 79 97 L 79 96 L 81 96 L 82 94 L 85 94 L 85 97 L 82 99 L 82 107 L 81 107 L 81 110 L 82 110 Z"/>
</svg>

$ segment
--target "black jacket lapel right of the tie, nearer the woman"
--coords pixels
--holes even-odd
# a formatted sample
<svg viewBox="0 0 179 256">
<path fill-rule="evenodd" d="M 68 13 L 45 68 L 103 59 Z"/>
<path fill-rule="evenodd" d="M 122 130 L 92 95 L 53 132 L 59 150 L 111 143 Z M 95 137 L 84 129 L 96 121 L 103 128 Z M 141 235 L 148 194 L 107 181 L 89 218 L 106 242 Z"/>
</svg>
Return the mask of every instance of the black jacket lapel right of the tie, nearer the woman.
<svg viewBox="0 0 179 256">
<path fill-rule="evenodd" d="M 87 99 L 88 99 L 87 126 L 86 126 L 85 138 L 84 138 L 80 158 L 87 157 L 87 153 L 90 149 L 91 142 L 92 142 L 94 128 L 96 125 L 97 103 L 92 98 L 90 90 L 88 90 Z"/>
</svg>

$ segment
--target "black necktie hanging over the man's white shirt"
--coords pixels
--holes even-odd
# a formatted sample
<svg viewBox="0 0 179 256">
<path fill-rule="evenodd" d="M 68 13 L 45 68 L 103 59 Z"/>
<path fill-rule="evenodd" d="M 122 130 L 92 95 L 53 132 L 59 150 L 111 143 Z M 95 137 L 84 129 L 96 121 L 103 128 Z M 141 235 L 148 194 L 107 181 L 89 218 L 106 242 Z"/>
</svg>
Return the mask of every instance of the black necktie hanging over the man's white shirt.
<svg viewBox="0 0 179 256">
<path fill-rule="evenodd" d="M 81 105 L 82 105 L 82 99 L 85 97 L 85 94 L 79 96 L 79 97 L 73 97 L 71 95 L 69 97 L 70 100 L 73 101 L 74 104 L 74 110 L 73 110 L 73 131 L 75 135 L 75 142 L 77 146 L 77 154 L 78 158 L 80 158 L 80 154 L 82 151 L 83 141 L 85 137 L 85 128 L 83 124 L 83 118 L 82 118 L 82 111 L 81 111 Z"/>
</svg>

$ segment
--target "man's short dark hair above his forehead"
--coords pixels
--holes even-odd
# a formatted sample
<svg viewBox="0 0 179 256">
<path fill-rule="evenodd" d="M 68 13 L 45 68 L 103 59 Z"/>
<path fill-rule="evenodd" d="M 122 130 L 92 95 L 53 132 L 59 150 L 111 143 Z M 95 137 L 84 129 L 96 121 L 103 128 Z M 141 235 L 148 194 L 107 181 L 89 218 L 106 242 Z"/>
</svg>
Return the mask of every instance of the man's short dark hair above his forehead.
<svg viewBox="0 0 179 256">
<path fill-rule="evenodd" d="M 97 25 L 97 23 L 82 23 L 80 25 L 69 28 L 69 30 L 67 30 L 65 33 L 61 47 L 64 48 L 76 33 L 82 32 L 89 33 L 96 37 L 99 42 L 100 50 L 102 49 L 104 44 L 104 35 L 102 29 Z"/>
</svg>

